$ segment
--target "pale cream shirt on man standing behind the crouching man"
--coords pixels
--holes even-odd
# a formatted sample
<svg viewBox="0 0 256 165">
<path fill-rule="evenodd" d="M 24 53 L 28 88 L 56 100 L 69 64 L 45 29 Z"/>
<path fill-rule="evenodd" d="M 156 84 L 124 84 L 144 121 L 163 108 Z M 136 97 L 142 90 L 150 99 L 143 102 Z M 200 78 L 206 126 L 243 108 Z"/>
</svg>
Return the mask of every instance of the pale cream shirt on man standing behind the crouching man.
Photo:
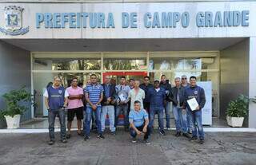
<svg viewBox="0 0 256 165">
<path fill-rule="evenodd" d="M 139 88 L 138 93 L 135 92 L 135 89 L 131 89 L 129 92 L 130 98 L 130 109 L 134 109 L 135 100 L 139 100 L 141 102 L 141 108 L 143 109 L 143 99 L 145 99 L 145 92 Z"/>
</svg>

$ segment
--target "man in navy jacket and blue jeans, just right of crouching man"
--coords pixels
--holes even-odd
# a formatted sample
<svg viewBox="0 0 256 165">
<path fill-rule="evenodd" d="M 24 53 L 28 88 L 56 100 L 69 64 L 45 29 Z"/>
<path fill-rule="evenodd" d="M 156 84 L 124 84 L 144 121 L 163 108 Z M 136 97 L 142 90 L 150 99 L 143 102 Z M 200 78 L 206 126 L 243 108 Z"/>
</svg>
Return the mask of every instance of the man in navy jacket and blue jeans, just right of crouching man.
<svg viewBox="0 0 256 165">
<path fill-rule="evenodd" d="M 166 91 L 164 88 L 160 88 L 159 81 L 154 81 L 154 88 L 150 88 L 147 94 L 150 101 L 150 129 L 154 126 L 154 116 L 158 113 L 158 125 L 160 128 L 160 134 L 166 135 L 163 129 L 163 111 L 164 102 L 166 101 Z M 152 131 L 150 131 L 152 132 Z"/>
</svg>

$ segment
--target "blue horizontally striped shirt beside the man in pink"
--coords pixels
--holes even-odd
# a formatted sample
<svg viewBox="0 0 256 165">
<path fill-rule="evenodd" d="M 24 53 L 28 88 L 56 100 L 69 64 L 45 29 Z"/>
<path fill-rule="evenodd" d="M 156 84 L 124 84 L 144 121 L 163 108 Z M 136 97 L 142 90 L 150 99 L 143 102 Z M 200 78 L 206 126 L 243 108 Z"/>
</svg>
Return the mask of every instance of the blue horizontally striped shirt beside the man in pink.
<svg viewBox="0 0 256 165">
<path fill-rule="evenodd" d="M 88 84 L 86 88 L 84 88 L 84 91 L 85 93 L 88 93 L 90 102 L 92 104 L 97 104 L 104 89 L 101 84 Z M 86 106 L 89 107 L 90 104 L 87 103 Z M 98 104 L 98 106 L 101 106 L 101 104 Z"/>
</svg>

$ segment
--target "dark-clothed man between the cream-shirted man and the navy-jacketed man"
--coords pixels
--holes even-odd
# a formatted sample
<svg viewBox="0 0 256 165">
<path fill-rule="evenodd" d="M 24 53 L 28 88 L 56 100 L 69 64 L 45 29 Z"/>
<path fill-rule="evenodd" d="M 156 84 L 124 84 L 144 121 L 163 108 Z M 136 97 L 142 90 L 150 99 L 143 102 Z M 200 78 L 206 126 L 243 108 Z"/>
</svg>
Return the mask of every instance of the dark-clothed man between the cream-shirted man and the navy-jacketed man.
<svg viewBox="0 0 256 165">
<path fill-rule="evenodd" d="M 150 77 L 144 77 L 144 83 L 139 85 L 139 88 L 145 92 L 145 99 L 143 100 L 144 109 L 150 113 L 150 100 L 147 97 L 147 92 L 150 88 L 154 88 L 152 84 L 150 84 Z"/>
</svg>

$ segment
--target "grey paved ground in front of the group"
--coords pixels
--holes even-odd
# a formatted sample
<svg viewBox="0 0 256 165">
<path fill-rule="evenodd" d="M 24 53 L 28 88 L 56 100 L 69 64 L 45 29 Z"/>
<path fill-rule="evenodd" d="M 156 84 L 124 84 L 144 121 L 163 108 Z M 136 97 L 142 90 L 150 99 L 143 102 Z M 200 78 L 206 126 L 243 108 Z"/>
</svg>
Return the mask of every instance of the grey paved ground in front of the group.
<svg viewBox="0 0 256 165">
<path fill-rule="evenodd" d="M 47 134 L 0 134 L 0 164 L 256 164 L 256 132 L 206 133 L 206 143 L 190 143 L 174 132 L 151 137 L 151 145 L 131 143 L 127 132 L 90 141 L 73 137 L 69 143 L 47 144 Z M 59 137 L 56 133 L 56 138 Z"/>
</svg>

